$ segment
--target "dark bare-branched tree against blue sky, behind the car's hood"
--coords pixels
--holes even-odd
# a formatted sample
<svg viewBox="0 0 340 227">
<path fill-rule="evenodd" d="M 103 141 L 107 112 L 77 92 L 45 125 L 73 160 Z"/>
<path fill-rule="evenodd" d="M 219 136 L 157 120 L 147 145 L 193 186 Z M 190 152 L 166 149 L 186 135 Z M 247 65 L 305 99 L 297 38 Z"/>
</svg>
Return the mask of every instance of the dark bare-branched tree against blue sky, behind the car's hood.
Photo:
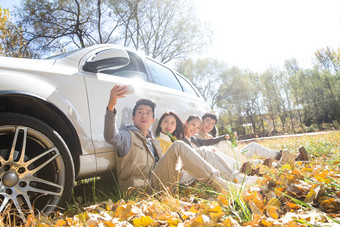
<svg viewBox="0 0 340 227">
<path fill-rule="evenodd" d="M 120 22 L 109 18 L 112 10 L 105 1 L 25 0 L 23 3 L 19 21 L 28 44 L 39 53 L 116 41 L 112 36 Z"/>
</svg>

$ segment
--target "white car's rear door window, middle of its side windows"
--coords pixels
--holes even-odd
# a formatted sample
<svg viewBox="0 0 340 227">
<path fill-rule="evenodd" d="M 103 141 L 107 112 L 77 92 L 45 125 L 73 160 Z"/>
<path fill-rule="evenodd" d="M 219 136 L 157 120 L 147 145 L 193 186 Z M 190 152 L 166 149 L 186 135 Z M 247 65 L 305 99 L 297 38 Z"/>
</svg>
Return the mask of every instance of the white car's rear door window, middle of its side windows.
<svg viewBox="0 0 340 227">
<path fill-rule="evenodd" d="M 146 62 L 151 71 L 151 74 L 153 75 L 154 83 L 162 85 L 164 87 L 183 91 L 181 85 L 179 84 L 178 80 L 170 69 L 149 59 L 146 59 Z"/>
</svg>

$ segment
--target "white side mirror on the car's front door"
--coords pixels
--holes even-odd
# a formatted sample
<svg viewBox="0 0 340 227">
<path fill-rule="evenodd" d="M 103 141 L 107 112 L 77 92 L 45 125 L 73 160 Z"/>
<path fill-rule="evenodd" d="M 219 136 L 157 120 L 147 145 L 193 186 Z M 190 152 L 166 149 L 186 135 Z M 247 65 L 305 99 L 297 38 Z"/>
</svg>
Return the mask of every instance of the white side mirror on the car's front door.
<svg viewBox="0 0 340 227">
<path fill-rule="evenodd" d="M 102 69 L 118 69 L 128 65 L 129 55 L 122 49 L 108 49 L 96 53 L 84 64 L 83 70 L 97 73 Z"/>
</svg>

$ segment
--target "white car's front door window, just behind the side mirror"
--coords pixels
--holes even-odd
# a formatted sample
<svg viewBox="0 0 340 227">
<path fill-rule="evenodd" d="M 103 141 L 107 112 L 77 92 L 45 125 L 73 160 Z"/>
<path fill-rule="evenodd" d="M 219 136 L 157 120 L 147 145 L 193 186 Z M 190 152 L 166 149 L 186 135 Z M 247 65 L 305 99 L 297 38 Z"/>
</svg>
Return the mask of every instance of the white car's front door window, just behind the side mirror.
<svg viewBox="0 0 340 227">
<path fill-rule="evenodd" d="M 128 52 L 128 54 L 130 58 L 128 65 L 119 69 L 106 69 L 101 70 L 100 72 L 120 77 L 140 78 L 144 81 L 148 81 L 146 71 L 140 57 L 132 52 Z"/>
</svg>

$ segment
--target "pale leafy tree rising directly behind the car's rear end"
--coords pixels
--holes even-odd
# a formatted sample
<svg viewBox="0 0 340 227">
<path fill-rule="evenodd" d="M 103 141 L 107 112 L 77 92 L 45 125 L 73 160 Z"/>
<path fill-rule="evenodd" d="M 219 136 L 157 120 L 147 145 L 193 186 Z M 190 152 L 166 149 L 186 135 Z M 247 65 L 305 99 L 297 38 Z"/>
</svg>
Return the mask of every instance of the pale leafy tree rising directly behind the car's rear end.
<svg viewBox="0 0 340 227">
<path fill-rule="evenodd" d="M 211 108 L 216 110 L 227 65 L 211 58 L 185 59 L 176 63 L 176 69 L 196 86 Z"/>
</svg>

